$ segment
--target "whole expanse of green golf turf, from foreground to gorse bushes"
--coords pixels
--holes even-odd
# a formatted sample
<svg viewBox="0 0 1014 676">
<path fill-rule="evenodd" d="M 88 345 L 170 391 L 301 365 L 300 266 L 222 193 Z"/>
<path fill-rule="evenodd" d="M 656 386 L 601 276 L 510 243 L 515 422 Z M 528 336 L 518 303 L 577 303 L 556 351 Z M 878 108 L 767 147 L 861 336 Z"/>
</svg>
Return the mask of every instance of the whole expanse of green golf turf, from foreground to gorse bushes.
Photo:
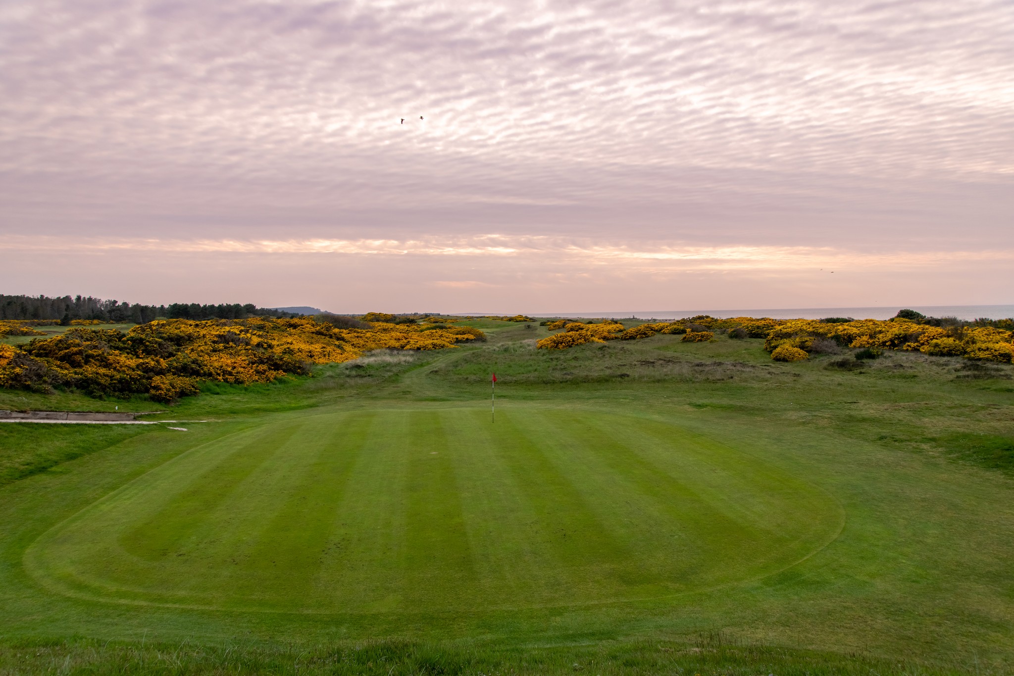
<svg viewBox="0 0 1014 676">
<path fill-rule="evenodd" d="M 209 387 L 187 431 L 0 426 L 34 468 L 0 485 L 2 673 L 1011 670 L 1010 367 L 479 325 Z"/>
</svg>

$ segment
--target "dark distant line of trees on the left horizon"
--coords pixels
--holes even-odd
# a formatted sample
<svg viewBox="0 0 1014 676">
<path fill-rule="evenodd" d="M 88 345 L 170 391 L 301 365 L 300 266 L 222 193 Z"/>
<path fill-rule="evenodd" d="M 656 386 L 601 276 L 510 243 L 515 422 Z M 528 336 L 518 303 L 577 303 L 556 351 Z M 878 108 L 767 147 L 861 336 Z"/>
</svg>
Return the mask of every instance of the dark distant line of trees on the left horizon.
<svg viewBox="0 0 1014 676">
<path fill-rule="evenodd" d="M 252 303 L 201 305 L 200 303 L 172 303 L 171 305 L 143 305 L 102 300 L 91 296 L 4 296 L 0 295 L 0 320 L 2 319 L 55 319 L 70 322 L 72 319 L 98 319 L 110 323 L 145 323 L 157 317 L 167 319 L 245 319 L 246 317 L 295 317 L 293 312 L 281 312 Z"/>
</svg>

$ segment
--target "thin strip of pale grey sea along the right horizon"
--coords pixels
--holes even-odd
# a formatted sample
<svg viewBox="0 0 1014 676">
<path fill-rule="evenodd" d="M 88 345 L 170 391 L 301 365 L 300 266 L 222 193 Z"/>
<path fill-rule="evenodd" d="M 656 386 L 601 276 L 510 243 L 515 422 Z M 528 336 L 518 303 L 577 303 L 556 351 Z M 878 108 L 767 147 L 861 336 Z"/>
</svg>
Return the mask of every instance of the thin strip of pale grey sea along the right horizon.
<svg viewBox="0 0 1014 676">
<path fill-rule="evenodd" d="M 878 307 L 794 307 L 750 308 L 738 310 L 623 310 L 609 312 L 558 312 L 556 314 L 529 314 L 533 317 L 610 317 L 624 319 L 683 319 L 698 314 L 713 317 L 771 317 L 772 319 L 822 319 L 823 317 L 852 317 L 853 319 L 889 319 L 901 309 L 900 305 Z M 1014 317 L 1014 305 L 910 305 L 909 309 L 929 317 L 957 317 L 958 319 L 1005 319 Z"/>
</svg>

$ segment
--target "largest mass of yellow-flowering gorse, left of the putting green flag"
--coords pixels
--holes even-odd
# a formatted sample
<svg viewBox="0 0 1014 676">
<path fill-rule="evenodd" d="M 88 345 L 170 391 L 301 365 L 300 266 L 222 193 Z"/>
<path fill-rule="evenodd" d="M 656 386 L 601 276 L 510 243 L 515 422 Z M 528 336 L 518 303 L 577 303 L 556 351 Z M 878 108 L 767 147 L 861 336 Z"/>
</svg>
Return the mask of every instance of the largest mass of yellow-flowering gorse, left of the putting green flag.
<svg viewBox="0 0 1014 676">
<path fill-rule="evenodd" d="M 40 390 L 65 385 L 92 394 L 148 393 L 170 400 L 196 393 L 200 381 L 269 382 L 371 350 L 440 350 L 475 340 L 485 335 L 467 326 L 423 330 L 375 322 L 371 328 L 338 328 L 307 317 L 169 319 L 126 333 L 71 328 L 19 349 L 5 346 L 0 385 Z"/>
</svg>

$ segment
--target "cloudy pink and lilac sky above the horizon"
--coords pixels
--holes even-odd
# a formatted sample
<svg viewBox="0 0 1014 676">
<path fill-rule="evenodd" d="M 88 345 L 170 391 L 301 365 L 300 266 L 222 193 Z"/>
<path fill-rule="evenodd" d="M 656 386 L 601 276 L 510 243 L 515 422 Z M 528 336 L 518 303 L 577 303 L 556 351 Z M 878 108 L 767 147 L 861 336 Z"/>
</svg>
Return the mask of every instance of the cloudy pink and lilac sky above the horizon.
<svg viewBox="0 0 1014 676">
<path fill-rule="evenodd" d="M 1014 303 L 1014 4 L 0 0 L 0 293 Z"/>
</svg>

